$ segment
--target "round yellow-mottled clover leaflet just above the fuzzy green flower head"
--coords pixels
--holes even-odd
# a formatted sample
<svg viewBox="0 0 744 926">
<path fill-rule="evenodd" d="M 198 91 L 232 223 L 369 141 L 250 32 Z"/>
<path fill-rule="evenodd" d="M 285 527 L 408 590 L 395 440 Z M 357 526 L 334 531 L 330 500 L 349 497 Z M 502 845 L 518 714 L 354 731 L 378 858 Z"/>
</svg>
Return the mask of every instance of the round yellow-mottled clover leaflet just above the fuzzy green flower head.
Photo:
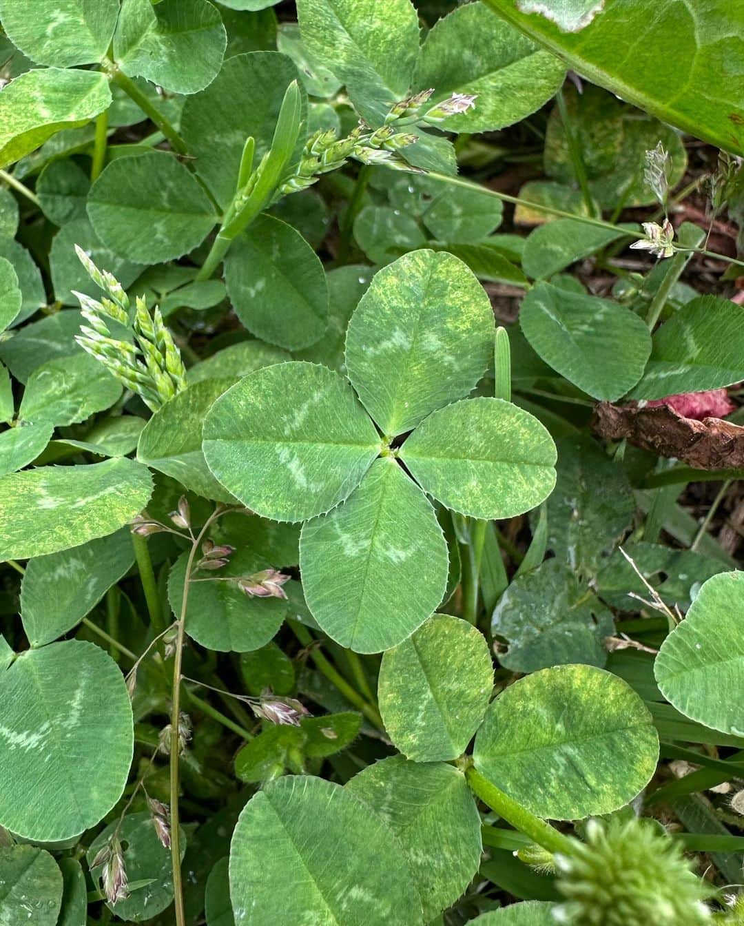
<svg viewBox="0 0 744 926">
<path fill-rule="evenodd" d="M 527 675 L 491 702 L 476 768 L 539 817 L 577 820 L 623 807 L 656 770 L 651 714 L 622 679 L 593 666 Z"/>
</svg>

